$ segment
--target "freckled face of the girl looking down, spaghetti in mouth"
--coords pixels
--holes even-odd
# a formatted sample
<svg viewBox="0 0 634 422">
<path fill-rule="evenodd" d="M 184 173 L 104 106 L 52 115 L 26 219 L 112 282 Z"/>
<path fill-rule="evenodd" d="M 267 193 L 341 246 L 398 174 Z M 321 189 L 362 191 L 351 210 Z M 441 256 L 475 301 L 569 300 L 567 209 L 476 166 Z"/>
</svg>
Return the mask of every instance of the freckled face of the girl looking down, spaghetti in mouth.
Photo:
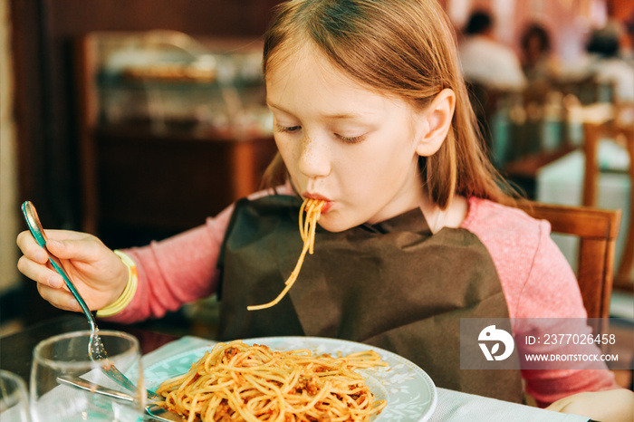
<svg viewBox="0 0 634 422">
<path fill-rule="evenodd" d="M 269 70 L 266 91 L 293 187 L 327 200 L 323 228 L 340 232 L 421 206 L 422 111 L 361 85 L 311 48 Z"/>
</svg>

